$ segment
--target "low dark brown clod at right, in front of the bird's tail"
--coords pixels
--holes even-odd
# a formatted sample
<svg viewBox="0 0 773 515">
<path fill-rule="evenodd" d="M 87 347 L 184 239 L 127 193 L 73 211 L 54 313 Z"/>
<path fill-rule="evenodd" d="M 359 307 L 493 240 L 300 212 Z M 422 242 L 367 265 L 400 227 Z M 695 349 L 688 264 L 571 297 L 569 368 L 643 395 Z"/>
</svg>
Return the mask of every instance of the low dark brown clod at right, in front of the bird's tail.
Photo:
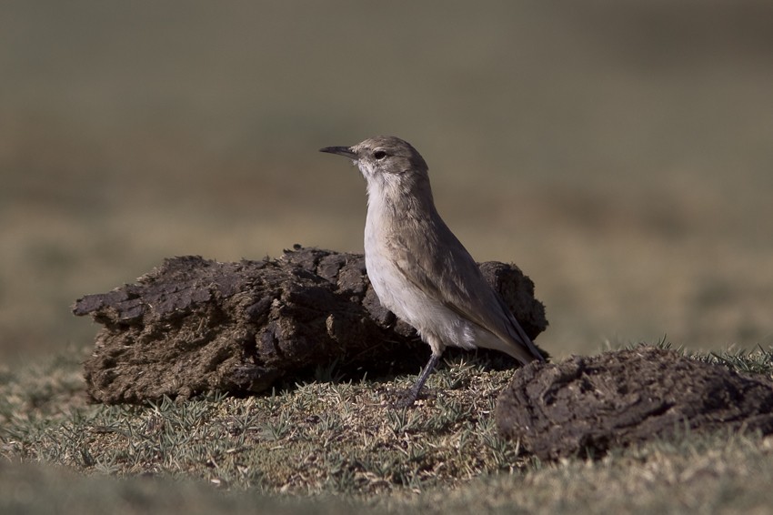
<svg viewBox="0 0 773 515">
<path fill-rule="evenodd" d="M 602 456 L 689 429 L 773 432 L 773 381 L 639 347 L 531 363 L 497 400 L 497 426 L 540 459 Z"/>
</svg>

